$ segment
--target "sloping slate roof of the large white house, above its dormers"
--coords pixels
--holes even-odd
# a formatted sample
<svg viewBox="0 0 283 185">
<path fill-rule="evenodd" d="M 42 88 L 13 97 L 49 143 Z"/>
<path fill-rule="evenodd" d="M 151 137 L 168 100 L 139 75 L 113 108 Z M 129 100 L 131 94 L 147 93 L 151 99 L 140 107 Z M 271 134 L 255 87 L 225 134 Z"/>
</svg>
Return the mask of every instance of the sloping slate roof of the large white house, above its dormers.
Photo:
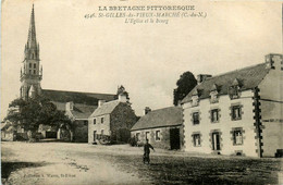
<svg viewBox="0 0 283 185">
<path fill-rule="evenodd" d="M 196 90 L 199 91 L 199 99 L 209 98 L 213 85 L 218 87 L 218 95 L 227 95 L 229 87 L 235 83 L 235 79 L 239 83 L 239 90 L 253 89 L 260 84 L 269 71 L 266 63 L 261 63 L 209 77 L 189 91 L 181 103 L 190 101 Z"/>
</svg>

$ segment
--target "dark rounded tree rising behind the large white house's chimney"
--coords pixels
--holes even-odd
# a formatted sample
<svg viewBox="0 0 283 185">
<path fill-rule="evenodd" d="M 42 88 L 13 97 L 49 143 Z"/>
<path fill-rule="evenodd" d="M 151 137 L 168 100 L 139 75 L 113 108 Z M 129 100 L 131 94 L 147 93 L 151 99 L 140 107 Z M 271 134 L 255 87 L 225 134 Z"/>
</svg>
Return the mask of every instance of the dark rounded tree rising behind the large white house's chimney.
<svg viewBox="0 0 283 185">
<path fill-rule="evenodd" d="M 177 106 L 179 101 L 183 100 L 185 96 L 197 85 L 197 79 L 190 72 L 185 72 L 180 76 L 176 82 L 177 88 L 174 89 L 173 103 Z"/>
</svg>

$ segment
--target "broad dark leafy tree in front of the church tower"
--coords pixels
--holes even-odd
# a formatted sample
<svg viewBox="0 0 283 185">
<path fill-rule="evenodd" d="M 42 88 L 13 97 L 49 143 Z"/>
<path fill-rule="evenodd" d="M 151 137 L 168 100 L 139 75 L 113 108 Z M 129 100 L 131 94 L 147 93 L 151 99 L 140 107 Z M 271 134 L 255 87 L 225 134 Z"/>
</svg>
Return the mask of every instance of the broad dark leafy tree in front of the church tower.
<svg viewBox="0 0 283 185">
<path fill-rule="evenodd" d="M 62 123 L 71 125 L 71 120 L 64 112 L 44 97 L 29 98 L 28 100 L 15 99 L 9 104 L 8 120 L 14 127 L 21 126 L 33 134 L 40 124 L 59 127 Z M 32 134 L 32 135 L 33 135 Z"/>
</svg>

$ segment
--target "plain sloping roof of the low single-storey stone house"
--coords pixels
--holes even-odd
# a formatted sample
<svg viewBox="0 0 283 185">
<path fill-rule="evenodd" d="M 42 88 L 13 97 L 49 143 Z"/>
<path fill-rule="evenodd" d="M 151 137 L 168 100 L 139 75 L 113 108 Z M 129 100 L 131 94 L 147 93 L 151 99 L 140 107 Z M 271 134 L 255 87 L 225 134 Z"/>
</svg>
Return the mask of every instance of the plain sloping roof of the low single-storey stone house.
<svg viewBox="0 0 283 185">
<path fill-rule="evenodd" d="M 158 109 L 142 116 L 131 131 L 181 125 L 182 120 L 183 113 L 180 107 Z"/>
</svg>

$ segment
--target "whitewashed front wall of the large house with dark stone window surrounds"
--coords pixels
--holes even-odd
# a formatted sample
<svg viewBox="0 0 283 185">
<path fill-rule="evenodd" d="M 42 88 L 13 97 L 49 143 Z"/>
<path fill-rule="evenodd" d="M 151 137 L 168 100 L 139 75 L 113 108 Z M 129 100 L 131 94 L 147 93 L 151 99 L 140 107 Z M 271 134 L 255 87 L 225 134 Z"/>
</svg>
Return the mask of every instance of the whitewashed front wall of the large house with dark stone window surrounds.
<svg viewBox="0 0 283 185">
<path fill-rule="evenodd" d="M 227 95 L 219 96 L 217 103 L 210 103 L 209 99 L 199 101 L 199 106 L 190 107 L 189 103 L 184 108 L 184 130 L 185 130 L 185 150 L 193 152 L 212 153 L 212 133 L 220 134 L 220 152 L 222 155 L 236 155 L 242 152 L 246 156 L 257 156 L 254 132 L 254 112 L 253 112 L 251 90 L 243 91 L 242 98 L 230 100 Z M 231 107 L 241 106 L 241 119 L 232 120 Z M 218 122 L 211 122 L 211 110 L 219 110 Z M 199 112 L 199 124 L 194 124 L 192 114 Z M 239 128 L 243 132 L 243 144 L 234 145 L 233 131 Z M 200 145 L 194 146 L 193 135 L 201 134 Z M 253 145 L 250 145 L 253 143 Z"/>
</svg>

